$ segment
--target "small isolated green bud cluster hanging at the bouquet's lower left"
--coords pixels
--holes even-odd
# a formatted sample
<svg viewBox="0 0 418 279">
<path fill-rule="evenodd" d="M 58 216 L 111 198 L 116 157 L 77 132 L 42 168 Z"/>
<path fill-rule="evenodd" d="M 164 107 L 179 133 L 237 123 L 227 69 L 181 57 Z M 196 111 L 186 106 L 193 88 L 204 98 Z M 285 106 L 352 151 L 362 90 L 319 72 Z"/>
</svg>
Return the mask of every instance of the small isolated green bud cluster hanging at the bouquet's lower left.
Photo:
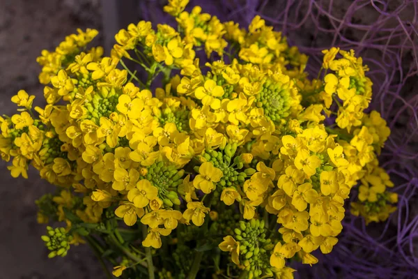
<svg viewBox="0 0 418 279">
<path fill-rule="evenodd" d="M 68 250 L 70 249 L 70 242 L 72 241 L 72 236 L 65 232 L 63 227 L 47 227 L 47 235 L 41 236 L 41 239 L 45 241 L 49 252 L 48 257 L 61 256 L 64 257 L 67 255 Z"/>
</svg>

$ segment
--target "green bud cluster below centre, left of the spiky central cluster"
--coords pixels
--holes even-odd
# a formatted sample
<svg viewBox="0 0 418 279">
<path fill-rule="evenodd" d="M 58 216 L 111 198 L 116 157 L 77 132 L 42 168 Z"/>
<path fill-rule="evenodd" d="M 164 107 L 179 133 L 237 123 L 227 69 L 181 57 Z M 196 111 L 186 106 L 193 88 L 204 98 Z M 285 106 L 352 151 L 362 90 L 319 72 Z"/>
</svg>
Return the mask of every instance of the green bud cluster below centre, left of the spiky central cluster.
<svg viewBox="0 0 418 279">
<path fill-rule="evenodd" d="M 147 179 L 158 188 L 158 195 L 166 206 L 180 205 L 180 199 L 176 193 L 177 187 L 183 183 L 184 169 L 176 169 L 175 165 L 166 165 L 164 162 L 153 163 L 147 169 L 148 173 L 140 176 Z"/>
</svg>

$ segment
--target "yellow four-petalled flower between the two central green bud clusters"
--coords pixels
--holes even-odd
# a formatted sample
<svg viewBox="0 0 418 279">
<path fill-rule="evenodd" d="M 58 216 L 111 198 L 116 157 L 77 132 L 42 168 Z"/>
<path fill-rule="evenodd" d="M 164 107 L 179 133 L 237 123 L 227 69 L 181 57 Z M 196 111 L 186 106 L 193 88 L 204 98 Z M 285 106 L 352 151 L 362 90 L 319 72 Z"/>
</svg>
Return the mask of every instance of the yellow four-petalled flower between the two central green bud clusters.
<svg viewBox="0 0 418 279">
<path fill-rule="evenodd" d="M 219 182 L 222 176 L 224 176 L 222 170 L 214 167 L 210 162 L 205 162 L 199 167 L 199 174 L 194 178 L 193 186 L 209 194 L 215 189 L 215 183 Z"/>
</svg>

